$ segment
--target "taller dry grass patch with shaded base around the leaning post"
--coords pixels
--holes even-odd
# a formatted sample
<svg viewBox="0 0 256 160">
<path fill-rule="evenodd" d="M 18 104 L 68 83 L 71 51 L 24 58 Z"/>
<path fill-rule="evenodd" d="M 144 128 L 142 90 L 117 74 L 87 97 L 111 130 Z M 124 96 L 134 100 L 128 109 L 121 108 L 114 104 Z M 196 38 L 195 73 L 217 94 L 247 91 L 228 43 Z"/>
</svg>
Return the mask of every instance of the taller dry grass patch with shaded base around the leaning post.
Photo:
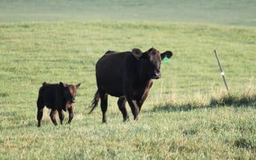
<svg viewBox="0 0 256 160">
<path fill-rule="evenodd" d="M 177 93 L 168 95 L 166 101 L 162 101 L 154 106 L 153 111 L 169 111 L 169 110 L 190 110 L 196 108 L 214 108 L 218 106 L 255 106 L 256 105 L 256 90 L 253 86 L 253 81 L 250 81 L 244 92 L 227 92 L 218 90 L 211 94 L 195 92 L 194 95 L 187 99 L 178 99 Z M 160 100 L 159 100 L 160 101 Z"/>
</svg>

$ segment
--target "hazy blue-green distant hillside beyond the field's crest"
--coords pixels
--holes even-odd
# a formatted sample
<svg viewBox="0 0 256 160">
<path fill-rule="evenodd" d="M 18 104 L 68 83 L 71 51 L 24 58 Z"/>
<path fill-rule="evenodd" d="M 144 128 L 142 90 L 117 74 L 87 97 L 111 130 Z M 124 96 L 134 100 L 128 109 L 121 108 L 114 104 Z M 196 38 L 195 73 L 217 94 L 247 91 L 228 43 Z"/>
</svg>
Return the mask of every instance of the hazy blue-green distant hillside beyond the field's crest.
<svg viewBox="0 0 256 160">
<path fill-rule="evenodd" d="M 255 26 L 256 1 L 31 1 L 0 2 L 0 22 L 154 20 Z"/>
</svg>

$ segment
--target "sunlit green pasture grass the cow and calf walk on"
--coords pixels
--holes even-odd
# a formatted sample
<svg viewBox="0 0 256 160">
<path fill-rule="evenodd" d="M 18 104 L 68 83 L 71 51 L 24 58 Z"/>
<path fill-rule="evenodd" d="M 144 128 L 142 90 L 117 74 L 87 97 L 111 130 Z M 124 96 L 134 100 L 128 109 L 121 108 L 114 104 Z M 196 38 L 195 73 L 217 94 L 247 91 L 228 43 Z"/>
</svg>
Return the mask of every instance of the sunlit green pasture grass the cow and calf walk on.
<svg viewBox="0 0 256 160">
<path fill-rule="evenodd" d="M 253 159 L 255 102 L 198 104 L 211 97 L 222 102 L 225 86 L 214 49 L 231 93 L 255 93 L 255 38 L 255 27 L 242 26 L 2 23 L 0 159 Z M 163 77 L 154 81 L 138 122 L 122 122 L 114 97 L 109 97 L 108 124 L 101 124 L 100 108 L 88 115 L 97 90 L 95 63 L 102 54 L 152 46 L 173 51 L 173 58 L 162 63 Z M 42 127 L 36 127 L 36 98 L 44 81 L 82 83 L 71 125 L 54 127 L 45 109 Z M 186 109 L 189 102 L 197 109 Z"/>
</svg>

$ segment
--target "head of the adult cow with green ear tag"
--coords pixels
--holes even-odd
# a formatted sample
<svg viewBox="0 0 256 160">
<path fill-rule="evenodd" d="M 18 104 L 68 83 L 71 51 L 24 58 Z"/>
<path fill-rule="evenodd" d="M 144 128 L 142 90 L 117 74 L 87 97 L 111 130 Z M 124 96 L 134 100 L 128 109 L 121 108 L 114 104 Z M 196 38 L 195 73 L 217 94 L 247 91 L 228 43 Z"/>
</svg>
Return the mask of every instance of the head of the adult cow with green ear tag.
<svg viewBox="0 0 256 160">
<path fill-rule="evenodd" d="M 141 61 L 141 70 L 152 79 L 161 77 L 160 66 L 161 60 L 172 57 L 171 51 L 160 53 L 154 48 L 148 49 L 146 52 L 141 52 L 140 49 L 132 49 L 132 55 Z"/>
</svg>

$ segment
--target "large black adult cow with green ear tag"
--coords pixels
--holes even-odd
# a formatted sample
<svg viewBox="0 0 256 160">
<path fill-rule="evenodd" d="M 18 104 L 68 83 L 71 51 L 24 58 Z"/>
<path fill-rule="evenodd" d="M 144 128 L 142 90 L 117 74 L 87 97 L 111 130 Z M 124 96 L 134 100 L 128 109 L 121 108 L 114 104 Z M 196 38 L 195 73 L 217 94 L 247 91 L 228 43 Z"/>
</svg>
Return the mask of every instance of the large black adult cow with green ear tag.
<svg viewBox="0 0 256 160">
<path fill-rule="evenodd" d="M 172 52 L 160 54 L 154 48 L 146 52 L 141 52 L 140 49 L 132 49 L 132 52 L 106 52 L 96 64 L 98 90 L 94 95 L 90 113 L 100 99 L 102 123 L 106 122 L 109 94 L 119 97 L 117 104 L 124 116 L 124 122 L 129 118 L 125 108 L 126 102 L 131 107 L 134 120 L 138 120 L 153 79 L 161 77 L 160 65 L 164 57 L 171 58 Z"/>
</svg>

